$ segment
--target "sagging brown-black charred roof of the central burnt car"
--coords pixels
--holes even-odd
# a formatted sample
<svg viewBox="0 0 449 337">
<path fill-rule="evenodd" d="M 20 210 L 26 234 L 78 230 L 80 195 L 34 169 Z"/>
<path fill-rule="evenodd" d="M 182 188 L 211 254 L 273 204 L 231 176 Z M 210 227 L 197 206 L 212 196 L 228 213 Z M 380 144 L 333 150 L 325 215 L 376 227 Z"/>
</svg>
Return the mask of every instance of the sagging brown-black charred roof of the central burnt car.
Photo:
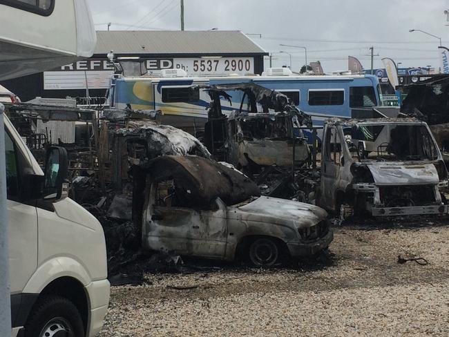
<svg viewBox="0 0 449 337">
<path fill-rule="evenodd" d="M 167 155 L 142 167 L 153 181 L 173 179 L 176 193 L 195 207 L 207 208 L 216 198 L 229 206 L 260 196 L 258 186 L 236 168 L 203 157 Z"/>
</svg>

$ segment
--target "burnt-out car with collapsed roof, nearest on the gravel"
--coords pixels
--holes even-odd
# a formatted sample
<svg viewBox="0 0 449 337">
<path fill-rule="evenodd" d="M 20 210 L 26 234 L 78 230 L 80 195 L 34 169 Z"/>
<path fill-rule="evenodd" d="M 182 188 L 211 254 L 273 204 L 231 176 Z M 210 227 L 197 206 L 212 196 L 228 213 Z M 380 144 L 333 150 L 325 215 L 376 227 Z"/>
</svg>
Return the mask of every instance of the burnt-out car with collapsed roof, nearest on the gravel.
<svg viewBox="0 0 449 337">
<path fill-rule="evenodd" d="M 318 206 L 260 197 L 233 166 L 198 156 L 149 162 L 142 217 L 144 249 L 218 260 L 246 258 L 258 267 L 326 249 L 333 234 Z"/>
</svg>

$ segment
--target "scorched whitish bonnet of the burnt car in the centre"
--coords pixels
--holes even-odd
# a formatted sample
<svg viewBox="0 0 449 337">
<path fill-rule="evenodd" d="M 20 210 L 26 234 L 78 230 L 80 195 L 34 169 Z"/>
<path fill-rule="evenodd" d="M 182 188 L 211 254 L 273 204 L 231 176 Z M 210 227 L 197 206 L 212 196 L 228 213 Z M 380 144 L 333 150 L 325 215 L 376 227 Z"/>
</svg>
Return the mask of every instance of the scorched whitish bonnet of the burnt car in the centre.
<svg viewBox="0 0 449 337">
<path fill-rule="evenodd" d="M 327 218 L 327 212 L 318 206 L 296 202 L 292 200 L 260 197 L 238 207 L 240 211 L 251 213 L 252 220 L 261 222 L 287 222 L 293 221 L 297 227 L 309 227 Z M 271 218 L 271 219 L 270 219 Z"/>
</svg>

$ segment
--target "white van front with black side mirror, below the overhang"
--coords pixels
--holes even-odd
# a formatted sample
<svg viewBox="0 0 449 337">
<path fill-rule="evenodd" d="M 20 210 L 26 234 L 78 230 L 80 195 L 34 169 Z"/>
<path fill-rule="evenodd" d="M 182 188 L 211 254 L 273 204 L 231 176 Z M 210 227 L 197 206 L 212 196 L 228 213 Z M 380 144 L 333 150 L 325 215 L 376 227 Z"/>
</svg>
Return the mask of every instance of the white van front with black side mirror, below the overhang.
<svg viewBox="0 0 449 337">
<path fill-rule="evenodd" d="M 66 198 L 65 149 L 48 149 L 44 174 L 4 122 L 12 336 L 95 336 L 109 300 L 102 226 Z"/>
</svg>

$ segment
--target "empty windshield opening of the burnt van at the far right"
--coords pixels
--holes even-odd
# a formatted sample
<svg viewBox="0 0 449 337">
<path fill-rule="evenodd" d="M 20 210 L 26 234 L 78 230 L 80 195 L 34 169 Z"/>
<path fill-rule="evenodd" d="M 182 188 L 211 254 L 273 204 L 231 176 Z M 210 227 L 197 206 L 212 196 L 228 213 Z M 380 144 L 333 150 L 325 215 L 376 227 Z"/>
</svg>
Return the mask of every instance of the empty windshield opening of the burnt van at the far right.
<svg viewBox="0 0 449 337">
<path fill-rule="evenodd" d="M 363 124 L 345 128 L 350 153 L 359 161 L 436 160 L 437 146 L 422 124 Z"/>
</svg>

